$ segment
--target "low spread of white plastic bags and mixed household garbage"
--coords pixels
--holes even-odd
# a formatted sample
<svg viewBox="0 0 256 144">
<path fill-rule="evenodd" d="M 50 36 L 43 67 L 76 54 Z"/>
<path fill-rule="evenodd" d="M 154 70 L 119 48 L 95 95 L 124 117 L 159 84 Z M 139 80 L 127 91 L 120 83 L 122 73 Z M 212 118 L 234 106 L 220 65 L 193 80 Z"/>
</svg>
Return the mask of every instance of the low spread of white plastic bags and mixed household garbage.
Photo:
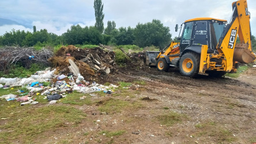
<svg viewBox="0 0 256 144">
<path fill-rule="evenodd" d="M 56 69 L 50 68 L 44 71 L 37 71 L 29 78 L 0 78 L 0 88 L 14 89 L 16 86 L 23 86 L 29 92 L 18 90 L 18 95 L 6 94 L 0 98 L 5 98 L 6 101 L 17 100 L 21 102 L 20 105 L 37 104 L 36 98 L 39 94 L 45 96 L 44 98 L 50 101 L 50 104 L 56 103 L 59 98 L 66 97 L 68 93 L 77 91 L 80 93 L 92 93 L 103 91 L 104 93 L 111 94 L 118 86 L 110 84 L 109 86 L 99 85 L 96 82 L 86 81 L 85 78 L 78 73 L 55 74 Z M 4 84 L 4 85 L 2 85 Z"/>
</svg>

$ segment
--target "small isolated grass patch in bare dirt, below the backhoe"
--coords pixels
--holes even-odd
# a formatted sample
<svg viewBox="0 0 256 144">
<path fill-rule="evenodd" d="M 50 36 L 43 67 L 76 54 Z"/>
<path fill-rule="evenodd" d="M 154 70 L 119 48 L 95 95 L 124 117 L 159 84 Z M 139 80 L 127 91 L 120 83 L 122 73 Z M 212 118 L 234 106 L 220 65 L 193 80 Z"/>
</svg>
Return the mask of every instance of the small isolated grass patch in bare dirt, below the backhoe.
<svg viewBox="0 0 256 144">
<path fill-rule="evenodd" d="M 172 124 L 182 122 L 182 120 L 187 118 L 187 116 L 177 112 L 169 112 L 163 115 L 159 115 L 156 118 L 160 121 L 160 124 L 165 126 L 172 126 Z"/>
</svg>

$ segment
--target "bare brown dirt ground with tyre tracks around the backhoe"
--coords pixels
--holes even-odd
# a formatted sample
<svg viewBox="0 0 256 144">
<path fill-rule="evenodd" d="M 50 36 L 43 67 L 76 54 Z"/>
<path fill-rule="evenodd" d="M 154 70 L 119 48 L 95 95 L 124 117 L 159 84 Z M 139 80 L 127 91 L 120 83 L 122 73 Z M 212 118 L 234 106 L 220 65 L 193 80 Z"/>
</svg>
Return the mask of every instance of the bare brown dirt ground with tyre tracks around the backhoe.
<svg viewBox="0 0 256 144">
<path fill-rule="evenodd" d="M 183 77 L 155 67 L 121 69 L 109 82 L 129 89 L 93 96 L 91 105 L 67 105 L 86 113 L 79 124 L 65 123 L 32 143 L 253 143 L 256 142 L 256 68 L 239 78 Z M 136 82 L 144 82 L 140 86 Z M 104 112 L 108 101 L 115 110 Z M 37 105 L 36 107 L 47 107 Z M 23 135 L 24 136 L 24 135 Z M 22 137 L 23 137 L 22 136 Z M 13 143 L 24 142 L 12 141 Z"/>
</svg>

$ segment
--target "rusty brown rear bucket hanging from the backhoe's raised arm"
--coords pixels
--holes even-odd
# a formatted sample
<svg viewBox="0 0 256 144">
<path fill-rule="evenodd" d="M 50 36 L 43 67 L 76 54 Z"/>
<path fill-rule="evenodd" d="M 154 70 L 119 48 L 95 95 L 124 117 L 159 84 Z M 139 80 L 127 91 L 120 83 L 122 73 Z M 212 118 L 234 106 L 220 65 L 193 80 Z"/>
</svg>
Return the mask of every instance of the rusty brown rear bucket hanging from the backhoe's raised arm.
<svg viewBox="0 0 256 144">
<path fill-rule="evenodd" d="M 248 50 L 248 44 L 238 43 L 235 46 L 233 59 L 241 63 L 251 63 L 255 55 Z"/>
</svg>

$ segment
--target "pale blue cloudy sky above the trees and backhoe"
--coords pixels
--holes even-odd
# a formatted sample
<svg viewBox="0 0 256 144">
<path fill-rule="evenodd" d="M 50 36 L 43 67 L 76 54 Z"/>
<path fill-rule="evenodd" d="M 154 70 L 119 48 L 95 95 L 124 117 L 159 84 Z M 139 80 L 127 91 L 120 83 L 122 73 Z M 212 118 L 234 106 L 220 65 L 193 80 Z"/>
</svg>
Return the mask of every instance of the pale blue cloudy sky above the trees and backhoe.
<svg viewBox="0 0 256 144">
<path fill-rule="evenodd" d="M 116 28 L 131 26 L 138 22 L 161 20 L 169 26 L 172 36 L 175 24 L 195 17 L 213 17 L 229 20 L 233 0 L 102 0 L 104 3 L 104 26 L 115 21 Z M 256 36 L 256 1 L 247 0 L 251 13 L 251 31 Z M 0 18 L 17 21 L 20 25 L 1 25 L 0 35 L 13 28 L 32 31 L 47 29 L 61 35 L 71 25 L 91 26 L 95 24 L 93 0 L 1 0 Z"/>
</svg>

